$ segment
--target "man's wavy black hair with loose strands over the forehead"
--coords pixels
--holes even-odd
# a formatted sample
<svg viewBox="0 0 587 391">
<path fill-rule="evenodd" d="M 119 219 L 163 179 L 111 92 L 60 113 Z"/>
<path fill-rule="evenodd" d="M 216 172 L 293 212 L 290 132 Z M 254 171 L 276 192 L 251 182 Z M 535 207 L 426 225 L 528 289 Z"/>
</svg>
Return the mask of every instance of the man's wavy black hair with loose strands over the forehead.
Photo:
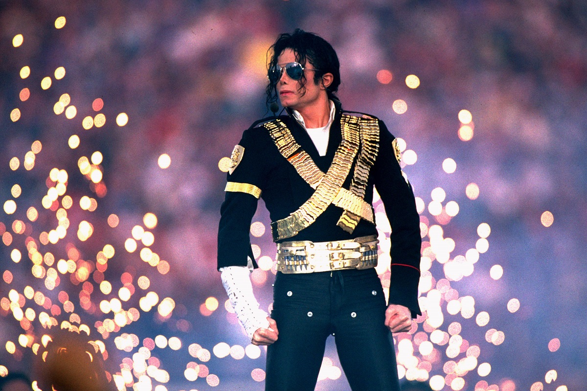
<svg viewBox="0 0 587 391">
<path fill-rule="evenodd" d="M 329 99 L 338 101 L 339 99 L 335 93 L 338 91 L 340 85 L 340 64 L 332 45 L 326 42 L 321 36 L 315 33 L 305 32 L 301 29 L 295 29 L 292 34 L 280 34 L 275 43 L 267 51 L 267 55 L 271 55 L 268 70 L 277 64 L 277 57 L 288 48 L 294 50 L 296 61 L 302 64 L 303 67 L 306 67 L 306 63 L 309 62 L 314 69 L 317 69 L 314 73 L 313 80 L 315 84 L 319 83 L 325 73 L 332 73 L 334 77 L 330 86 L 326 88 L 326 93 L 328 93 Z M 302 79 L 299 81 L 302 93 L 305 94 L 305 74 L 302 74 Z M 269 108 L 272 103 L 278 100 L 275 83 L 269 81 L 265 93 L 266 105 Z"/>
</svg>

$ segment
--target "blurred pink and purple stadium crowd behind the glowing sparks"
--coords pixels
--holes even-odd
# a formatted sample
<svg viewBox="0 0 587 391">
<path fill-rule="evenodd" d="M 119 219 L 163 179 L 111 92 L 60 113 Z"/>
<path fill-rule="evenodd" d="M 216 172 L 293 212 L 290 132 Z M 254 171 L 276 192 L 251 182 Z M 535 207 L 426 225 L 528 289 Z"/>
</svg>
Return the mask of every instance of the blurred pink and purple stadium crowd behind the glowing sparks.
<svg viewBox="0 0 587 391">
<path fill-rule="evenodd" d="M 56 29 L 59 16 L 67 22 Z M 454 255 L 474 246 L 480 223 L 490 224 L 490 247 L 475 266 L 478 271 L 453 283 L 461 294 L 475 297 L 476 308 L 488 311 L 494 327 L 505 332 L 504 344 L 485 347 L 483 328 L 473 323 L 463 330 L 471 344 L 477 341 L 487 353 L 492 372 L 485 379 L 490 384 L 512 379 L 517 389 L 529 389 L 556 369 L 555 385 L 582 385 L 587 365 L 582 346 L 587 340 L 577 325 L 587 321 L 585 303 L 578 300 L 587 295 L 582 262 L 587 251 L 587 6 L 579 0 L 3 1 L 0 202 L 11 199 L 11 188 L 19 183 L 19 207 L 35 205 L 43 215 L 49 212 L 41 206 L 49 170 L 66 169 L 68 194 L 76 202 L 89 195 L 98 203 L 87 217 L 95 227 L 92 238 L 77 241 L 73 222 L 86 219 L 87 212 L 72 208 L 66 241 L 76 242 L 86 259 L 112 244 L 116 256 L 104 276 L 113 285 L 124 271 L 136 278 L 146 275 L 160 298 L 176 302 L 171 319 L 144 314 L 126 332 L 141 341 L 177 335 L 185 348 L 192 342 L 210 350 L 223 341 L 246 345 L 239 325 L 227 321 L 215 266 L 225 185 L 218 162 L 230 156 L 245 128 L 271 114 L 264 97 L 267 49 L 279 33 L 298 27 L 318 33 L 337 50 L 343 108 L 377 115 L 416 151 L 416 164 L 404 168 L 416 196 L 428 203 L 430 192 L 440 186 L 447 199 L 459 203 L 460 213 L 444 227 L 445 236 L 457 243 Z M 24 40 L 14 47 L 17 34 Z M 19 76 L 23 66 L 31 67 L 26 79 Z M 60 66 L 66 75 L 55 80 Z M 378 80 L 380 70 L 392 74 L 389 83 Z M 406 86 L 409 74 L 419 77 L 417 89 Z M 48 90 L 41 89 L 45 76 L 53 79 Z M 31 97 L 21 101 L 19 92 L 25 87 Z M 53 112 L 63 93 L 77 107 L 71 120 Z M 85 130 L 82 119 L 96 115 L 96 98 L 104 102 L 100 112 L 106 124 Z M 407 103 L 404 114 L 392 108 L 398 99 Z M 11 112 L 17 107 L 21 117 L 13 122 Z M 473 116 L 470 141 L 457 134 L 462 109 Z M 119 113 L 129 117 L 124 126 L 116 124 Z M 76 149 L 68 147 L 73 134 L 81 140 Z M 9 169 L 9 161 L 19 157 L 22 162 L 35 140 L 43 145 L 35 167 Z M 79 157 L 94 151 L 103 155 L 103 198 L 91 191 L 77 168 Z M 161 154 L 171 157 L 167 169 L 158 165 Z M 446 158 L 457 162 L 454 174 L 443 171 Z M 480 188 L 476 200 L 465 195 L 470 182 Z M 541 224 L 546 210 L 554 215 L 549 227 Z M 158 218 L 153 251 L 170 264 L 167 274 L 124 250 L 131 229 L 147 212 Z M 120 219 L 116 228 L 106 224 L 112 213 Z M 0 210 L 7 231 L 12 220 L 14 216 Z M 55 225 L 49 217 L 45 220 Z M 262 202 L 255 221 L 268 232 Z M 35 224 L 42 227 L 43 217 Z M 253 243 L 261 255 L 273 257 L 269 236 L 253 238 Z M 0 244 L 0 271 L 10 270 L 15 281 L 0 281 L 1 297 L 8 297 L 17 283 L 42 287 L 31 275 L 26 249 L 21 249 L 20 263 L 10 260 L 13 247 Z M 504 269 L 498 281 L 489 277 L 494 264 Z M 441 266 L 431 272 L 436 280 L 444 278 Z M 256 289 L 266 308 L 271 272 L 265 277 Z M 71 289 L 76 303 L 79 287 L 67 280 L 62 278 L 62 285 L 45 294 L 57 302 L 59 290 Z M 220 302 L 209 316 L 201 310 L 208 297 Z M 513 297 L 521 302 L 516 314 L 505 308 Z M 101 319 L 99 311 L 85 316 L 90 328 Z M 180 318 L 187 326 L 178 327 Z M 0 346 L 16 341 L 22 332 L 12 314 L 0 317 Z M 42 332 L 40 325 L 35 332 Z M 104 366 L 113 365 L 116 372 L 131 353 L 117 350 L 113 336 Z M 552 338 L 561 341 L 556 352 L 548 349 Z M 17 348 L 22 351 L 19 358 L 2 349 L 0 365 L 26 370 L 32 353 Z M 177 355 L 181 368 L 172 364 Z M 171 351 L 160 357 L 171 374 L 169 389 L 179 389 L 186 383 L 185 363 L 193 358 Z M 239 382 L 247 385 L 243 389 L 257 389 L 261 386 L 250 373 L 264 368 L 263 357 L 246 363 L 212 359 L 208 366 L 220 376 L 220 389 Z M 434 370 L 430 375 L 444 375 L 442 366 Z M 479 379 L 475 376 L 471 374 L 467 389 L 473 390 Z M 322 387 L 332 384 L 338 383 L 325 380 Z M 203 383 L 197 387 L 208 389 Z"/>
</svg>

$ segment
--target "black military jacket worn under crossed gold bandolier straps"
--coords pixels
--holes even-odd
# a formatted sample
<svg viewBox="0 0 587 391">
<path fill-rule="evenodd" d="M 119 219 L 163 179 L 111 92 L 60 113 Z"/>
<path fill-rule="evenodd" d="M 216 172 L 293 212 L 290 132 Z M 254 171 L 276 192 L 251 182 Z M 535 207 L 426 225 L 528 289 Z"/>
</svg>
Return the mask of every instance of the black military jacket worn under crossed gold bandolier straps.
<svg viewBox="0 0 587 391">
<path fill-rule="evenodd" d="M 284 121 L 296 142 L 310 155 L 315 164 L 326 172 L 342 140 L 341 115 L 340 106 L 336 104 L 335 119 L 330 126 L 328 149 L 323 157 L 319 155 L 308 133 L 295 118 L 282 115 L 279 119 Z M 370 170 L 365 201 L 372 203 L 375 185 L 392 227 L 389 304 L 404 305 L 415 317 L 416 314 L 421 314 L 417 301 L 420 277 L 420 219 L 411 186 L 402 176 L 392 147 L 394 137 L 381 120 L 379 129 L 379 153 Z M 265 201 L 273 222 L 289 216 L 312 196 L 315 190 L 279 153 L 265 127 L 258 125 L 245 130 L 239 145 L 244 151 L 241 152 L 241 160 L 232 174 L 228 174 L 228 182 L 248 183 L 260 189 L 261 198 Z M 353 169 L 350 170 L 343 188 L 349 189 L 352 173 Z M 251 253 L 249 230 L 256 210 L 255 195 L 241 191 L 225 193 L 218 229 L 218 268 L 247 265 L 247 256 Z M 312 225 L 301 230 L 296 236 L 279 242 L 330 242 L 377 234 L 375 225 L 366 220 L 360 220 L 352 234 L 345 232 L 336 225 L 342 213 L 343 209 L 330 205 Z"/>
</svg>

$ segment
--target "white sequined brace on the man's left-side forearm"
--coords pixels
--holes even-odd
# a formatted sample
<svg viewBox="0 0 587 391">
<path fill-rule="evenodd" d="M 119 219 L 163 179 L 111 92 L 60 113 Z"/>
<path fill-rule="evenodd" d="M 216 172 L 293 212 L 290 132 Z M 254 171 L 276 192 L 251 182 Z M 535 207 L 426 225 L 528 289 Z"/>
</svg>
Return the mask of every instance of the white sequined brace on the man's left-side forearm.
<svg viewBox="0 0 587 391">
<path fill-rule="evenodd" d="M 259 302 L 253 294 L 251 261 L 249 261 L 249 267 L 221 267 L 220 278 L 239 322 L 245 328 L 249 339 L 252 339 L 258 328 L 269 328 L 269 321 L 267 313 L 259 308 Z"/>
</svg>

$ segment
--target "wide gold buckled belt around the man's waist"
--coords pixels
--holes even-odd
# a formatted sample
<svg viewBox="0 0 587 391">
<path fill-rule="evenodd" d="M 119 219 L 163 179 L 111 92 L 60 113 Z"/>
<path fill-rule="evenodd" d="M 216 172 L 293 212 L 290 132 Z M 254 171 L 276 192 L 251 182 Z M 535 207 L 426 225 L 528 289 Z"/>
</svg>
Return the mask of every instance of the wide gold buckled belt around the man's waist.
<svg viewBox="0 0 587 391">
<path fill-rule="evenodd" d="M 314 273 L 343 269 L 368 269 L 377 266 L 376 235 L 335 242 L 298 240 L 277 244 L 277 271 Z"/>
</svg>

